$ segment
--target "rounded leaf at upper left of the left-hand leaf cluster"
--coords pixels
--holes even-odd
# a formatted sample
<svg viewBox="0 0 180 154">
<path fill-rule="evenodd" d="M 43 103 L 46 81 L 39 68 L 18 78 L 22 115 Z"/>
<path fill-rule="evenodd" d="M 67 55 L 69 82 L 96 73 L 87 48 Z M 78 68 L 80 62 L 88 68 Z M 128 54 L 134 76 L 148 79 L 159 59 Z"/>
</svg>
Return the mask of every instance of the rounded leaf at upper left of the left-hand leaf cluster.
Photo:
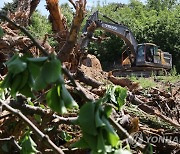
<svg viewBox="0 0 180 154">
<path fill-rule="evenodd" d="M 10 62 L 6 64 L 8 71 L 13 73 L 13 75 L 19 74 L 27 68 L 27 63 L 22 61 L 19 57 L 15 57 L 14 60 L 10 60 Z"/>
</svg>

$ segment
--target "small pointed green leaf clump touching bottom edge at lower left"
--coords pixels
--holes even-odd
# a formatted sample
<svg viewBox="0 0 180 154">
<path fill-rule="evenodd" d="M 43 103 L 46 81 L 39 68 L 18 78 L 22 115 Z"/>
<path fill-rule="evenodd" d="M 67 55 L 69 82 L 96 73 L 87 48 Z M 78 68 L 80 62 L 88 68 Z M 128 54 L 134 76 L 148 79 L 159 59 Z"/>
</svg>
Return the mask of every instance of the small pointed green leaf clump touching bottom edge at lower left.
<svg viewBox="0 0 180 154">
<path fill-rule="evenodd" d="M 21 141 L 21 154 L 36 154 L 36 143 L 32 140 L 30 133 L 26 133 Z"/>
</svg>

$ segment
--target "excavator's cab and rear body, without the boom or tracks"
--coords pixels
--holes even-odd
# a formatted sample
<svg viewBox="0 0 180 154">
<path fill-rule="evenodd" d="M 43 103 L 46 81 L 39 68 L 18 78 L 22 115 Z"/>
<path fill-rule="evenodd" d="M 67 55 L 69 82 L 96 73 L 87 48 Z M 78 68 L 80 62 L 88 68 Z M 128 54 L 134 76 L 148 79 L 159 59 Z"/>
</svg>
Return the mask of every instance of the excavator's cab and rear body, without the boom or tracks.
<svg viewBox="0 0 180 154">
<path fill-rule="evenodd" d="M 157 45 L 152 43 L 138 44 L 136 53 L 125 50 L 122 53 L 123 67 L 154 67 L 172 68 L 172 57 L 168 52 L 163 52 Z"/>
</svg>

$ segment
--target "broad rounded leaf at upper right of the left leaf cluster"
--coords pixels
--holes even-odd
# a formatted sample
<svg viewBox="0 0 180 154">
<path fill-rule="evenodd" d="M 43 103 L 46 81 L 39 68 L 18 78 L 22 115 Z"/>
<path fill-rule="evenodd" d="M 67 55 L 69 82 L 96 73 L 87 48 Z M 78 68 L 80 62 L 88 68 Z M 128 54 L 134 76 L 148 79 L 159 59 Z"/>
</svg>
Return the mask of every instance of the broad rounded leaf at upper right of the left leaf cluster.
<svg viewBox="0 0 180 154">
<path fill-rule="evenodd" d="M 59 60 L 54 59 L 46 62 L 42 68 L 42 76 L 46 83 L 56 82 L 61 74 L 61 63 Z"/>
</svg>

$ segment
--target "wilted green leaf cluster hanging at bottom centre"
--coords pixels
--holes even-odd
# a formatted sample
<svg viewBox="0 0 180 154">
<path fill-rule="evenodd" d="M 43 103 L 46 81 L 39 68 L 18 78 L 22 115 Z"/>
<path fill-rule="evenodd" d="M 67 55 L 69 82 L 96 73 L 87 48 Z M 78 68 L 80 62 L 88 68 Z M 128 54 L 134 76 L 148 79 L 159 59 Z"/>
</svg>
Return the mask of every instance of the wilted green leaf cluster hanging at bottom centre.
<svg viewBox="0 0 180 154">
<path fill-rule="evenodd" d="M 78 124 L 81 127 L 83 137 L 73 146 L 89 148 L 92 153 L 118 153 L 117 149 L 120 148 L 119 136 L 108 121 L 112 107 L 105 103 L 112 101 L 120 109 L 124 105 L 126 97 L 127 90 L 125 88 L 109 86 L 103 98 L 84 104 L 78 117 Z"/>
</svg>

